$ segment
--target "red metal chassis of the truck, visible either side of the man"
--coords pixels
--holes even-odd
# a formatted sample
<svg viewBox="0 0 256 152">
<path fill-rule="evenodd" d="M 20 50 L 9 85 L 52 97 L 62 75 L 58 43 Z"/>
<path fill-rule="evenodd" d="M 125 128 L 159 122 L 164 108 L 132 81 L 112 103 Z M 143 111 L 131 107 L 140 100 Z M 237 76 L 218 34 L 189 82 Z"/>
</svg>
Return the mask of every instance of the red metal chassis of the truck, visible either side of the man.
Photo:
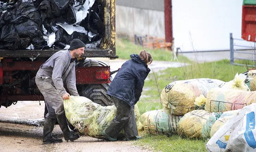
<svg viewBox="0 0 256 152">
<path fill-rule="evenodd" d="M 44 100 L 41 94 L 28 95 L 21 94 L 20 89 L 15 91 L 9 86 L 17 83 L 12 77 L 15 71 L 37 71 L 44 62 L 40 61 L 14 61 L 12 59 L 2 59 L 0 67 L 0 85 L 4 87 L 4 94 L 0 95 L 0 102 L 8 104 L 8 101 L 37 101 Z M 30 75 L 31 76 L 31 75 Z M 35 75 L 34 75 L 35 76 Z M 101 84 L 110 83 L 110 67 L 91 66 L 91 67 L 76 67 L 76 83 L 78 85 L 85 84 Z M 5 84 L 5 85 L 4 85 Z M 18 84 L 17 84 L 18 85 Z M 16 86 L 16 85 L 15 85 Z M 13 93 L 10 93 L 13 92 Z M 4 105 L 5 107 L 8 105 Z"/>
</svg>

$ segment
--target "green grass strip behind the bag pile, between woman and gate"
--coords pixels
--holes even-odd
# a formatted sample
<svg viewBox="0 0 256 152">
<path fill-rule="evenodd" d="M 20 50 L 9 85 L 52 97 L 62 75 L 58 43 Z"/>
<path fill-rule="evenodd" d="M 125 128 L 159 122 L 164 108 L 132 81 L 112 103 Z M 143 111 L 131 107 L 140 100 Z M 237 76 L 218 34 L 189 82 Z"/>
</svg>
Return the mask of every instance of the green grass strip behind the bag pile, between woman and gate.
<svg viewBox="0 0 256 152">
<path fill-rule="evenodd" d="M 144 88 L 150 88 L 143 92 L 143 95 L 149 96 L 145 100 L 160 102 L 160 95 L 163 88 L 176 80 L 186 80 L 194 78 L 211 78 L 228 82 L 234 79 L 236 73 L 246 72 L 245 66 L 230 65 L 229 60 L 217 62 L 191 63 L 191 65 L 168 68 L 161 72 L 151 72 L 149 80 L 145 81 Z M 160 92 L 160 93 L 159 93 Z"/>
</svg>

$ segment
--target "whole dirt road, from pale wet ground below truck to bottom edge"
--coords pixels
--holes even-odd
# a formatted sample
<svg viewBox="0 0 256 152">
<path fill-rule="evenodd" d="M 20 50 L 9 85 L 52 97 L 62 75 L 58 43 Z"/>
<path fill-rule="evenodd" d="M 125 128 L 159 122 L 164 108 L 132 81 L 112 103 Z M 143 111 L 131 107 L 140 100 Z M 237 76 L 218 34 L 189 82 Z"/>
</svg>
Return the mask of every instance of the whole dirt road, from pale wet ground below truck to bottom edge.
<svg viewBox="0 0 256 152">
<path fill-rule="evenodd" d="M 43 145 L 44 102 L 20 101 L 8 108 L 0 108 L 1 152 L 149 152 L 134 146 L 129 141 L 104 141 L 82 135 L 74 142 L 66 142 L 59 125 L 55 125 L 53 136 L 62 143 Z M 15 123 L 14 123 L 15 122 Z M 17 124 L 19 123 L 19 124 Z M 30 125 L 28 125 L 30 124 Z M 32 125 L 33 124 L 33 125 Z"/>
</svg>

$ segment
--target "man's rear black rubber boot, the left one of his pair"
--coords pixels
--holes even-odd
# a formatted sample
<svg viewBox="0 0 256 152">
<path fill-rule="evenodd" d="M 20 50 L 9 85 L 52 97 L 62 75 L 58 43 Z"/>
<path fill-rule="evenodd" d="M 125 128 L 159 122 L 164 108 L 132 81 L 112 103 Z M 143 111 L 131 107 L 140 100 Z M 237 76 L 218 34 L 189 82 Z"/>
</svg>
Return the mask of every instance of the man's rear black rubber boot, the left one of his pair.
<svg viewBox="0 0 256 152">
<path fill-rule="evenodd" d="M 51 119 L 47 117 L 45 118 L 44 139 L 43 139 L 44 144 L 62 142 L 62 139 L 56 139 L 51 135 L 55 122 L 56 122 L 56 119 Z"/>
</svg>

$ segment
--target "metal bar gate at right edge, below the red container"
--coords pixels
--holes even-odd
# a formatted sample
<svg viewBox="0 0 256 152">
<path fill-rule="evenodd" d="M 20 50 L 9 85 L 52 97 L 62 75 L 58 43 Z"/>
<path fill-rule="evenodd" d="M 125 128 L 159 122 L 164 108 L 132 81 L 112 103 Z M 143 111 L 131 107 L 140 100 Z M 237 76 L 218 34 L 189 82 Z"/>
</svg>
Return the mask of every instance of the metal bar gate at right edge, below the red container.
<svg viewBox="0 0 256 152">
<path fill-rule="evenodd" d="M 235 39 L 230 33 L 230 64 L 256 67 L 256 43 Z"/>
</svg>

